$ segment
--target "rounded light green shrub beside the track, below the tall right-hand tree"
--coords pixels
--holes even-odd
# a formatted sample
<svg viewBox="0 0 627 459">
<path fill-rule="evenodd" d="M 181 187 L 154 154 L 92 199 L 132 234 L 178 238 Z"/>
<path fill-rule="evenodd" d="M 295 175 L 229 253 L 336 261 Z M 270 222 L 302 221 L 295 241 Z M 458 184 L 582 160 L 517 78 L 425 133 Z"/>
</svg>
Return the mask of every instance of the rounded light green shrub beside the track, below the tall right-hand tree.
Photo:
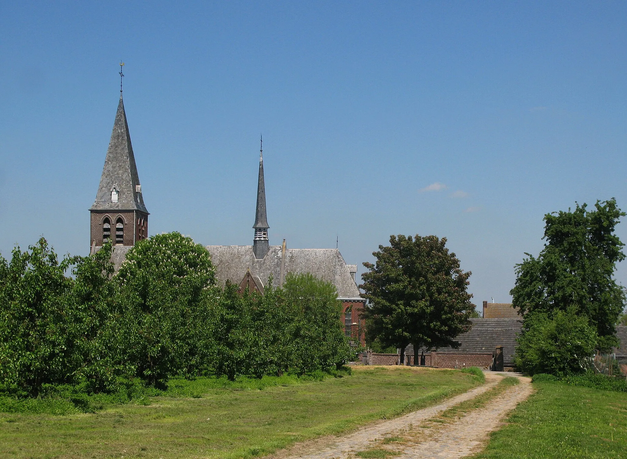
<svg viewBox="0 0 627 459">
<path fill-rule="evenodd" d="M 572 310 L 556 310 L 525 316 L 517 339 L 515 364 L 528 374 L 548 373 L 558 377 L 586 371 L 587 359 L 594 353 L 597 334 L 584 316 Z"/>
</svg>

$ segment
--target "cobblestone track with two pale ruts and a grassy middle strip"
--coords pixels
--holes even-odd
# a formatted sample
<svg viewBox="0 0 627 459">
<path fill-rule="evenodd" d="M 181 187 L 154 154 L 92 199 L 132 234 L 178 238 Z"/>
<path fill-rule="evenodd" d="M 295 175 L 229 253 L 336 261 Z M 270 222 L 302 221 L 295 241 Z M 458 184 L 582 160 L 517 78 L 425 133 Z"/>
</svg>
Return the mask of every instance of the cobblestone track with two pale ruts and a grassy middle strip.
<svg viewBox="0 0 627 459">
<path fill-rule="evenodd" d="M 367 450 L 386 436 L 406 433 L 413 426 L 410 441 L 398 445 L 386 445 L 386 449 L 398 451 L 398 459 L 408 458 L 459 458 L 480 447 L 490 431 L 495 430 L 505 414 L 526 399 L 531 393 L 529 378 L 520 378 L 521 384 L 512 386 L 483 408 L 471 411 L 467 416 L 441 428 L 421 428 L 428 419 L 438 416 L 451 406 L 475 398 L 492 389 L 503 376 L 488 373 L 483 386 L 450 398 L 429 408 L 419 409 L 398 418 L 369 425 L 340 437 L 298 443 L 287 450 L 269 456 L 275 459 L 345 459 L 357 451 Z"/>
</svg>

